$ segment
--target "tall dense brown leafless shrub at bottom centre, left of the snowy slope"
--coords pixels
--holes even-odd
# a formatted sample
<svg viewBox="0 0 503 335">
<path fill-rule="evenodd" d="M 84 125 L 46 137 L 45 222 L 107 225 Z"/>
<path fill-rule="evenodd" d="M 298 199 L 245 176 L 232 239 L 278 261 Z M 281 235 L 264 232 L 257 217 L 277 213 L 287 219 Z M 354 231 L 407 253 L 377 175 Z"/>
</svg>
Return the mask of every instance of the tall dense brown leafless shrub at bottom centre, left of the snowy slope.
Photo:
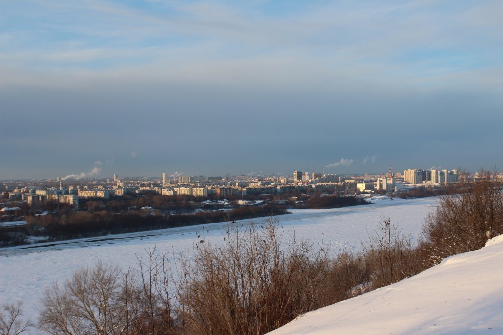
<svg viewBox="0 0 503 335">
<path fill-rule="evenodd" d="M 229 223 L 225 243 L 199 243 L 185 264 L 181 294 L 195 333 L 258 334 L 321 307 L 329 260 L 308 240 L 283 240 L 278 221 L 264 229 Z"/>
</svg>

